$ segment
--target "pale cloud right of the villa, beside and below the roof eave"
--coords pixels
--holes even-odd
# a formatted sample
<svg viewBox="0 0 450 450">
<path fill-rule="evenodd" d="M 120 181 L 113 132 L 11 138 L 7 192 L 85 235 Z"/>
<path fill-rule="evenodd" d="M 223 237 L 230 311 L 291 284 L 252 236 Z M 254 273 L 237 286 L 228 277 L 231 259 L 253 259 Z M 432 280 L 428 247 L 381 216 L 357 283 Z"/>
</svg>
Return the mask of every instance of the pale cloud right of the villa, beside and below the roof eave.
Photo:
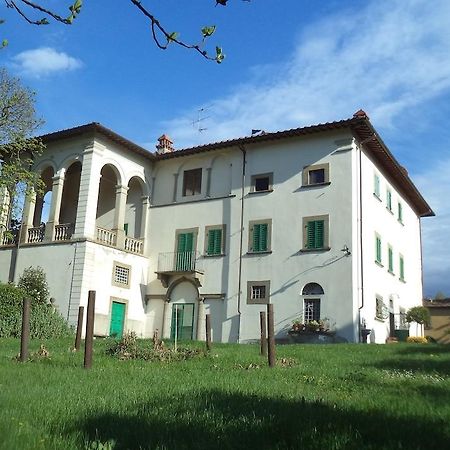
<svg viewBox="0 0 450 450">
<path fill-rule="evenodd" d="M 414 176 L 414 182 L 433 207 L 436 217 L 422 220 L 425 294 L 450 295 L 450 158 Z"/>
</svg>

